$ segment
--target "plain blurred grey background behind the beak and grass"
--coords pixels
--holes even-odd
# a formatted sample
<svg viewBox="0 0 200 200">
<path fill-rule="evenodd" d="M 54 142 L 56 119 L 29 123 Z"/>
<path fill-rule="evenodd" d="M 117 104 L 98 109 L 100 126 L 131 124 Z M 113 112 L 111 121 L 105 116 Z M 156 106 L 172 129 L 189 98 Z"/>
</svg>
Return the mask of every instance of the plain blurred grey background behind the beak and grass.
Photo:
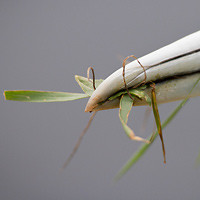
<svg viewBox="0 0 200 200">
<path fill-rule="evenodd" d="M 89 120 L 87 99 L 61 103 L 5 101 L 3 90 L 81 92 L 74 75 L 97 78 L 121 67 L 120 57 L 143 56 L 200 28 L 199 0 L 0 1 L 1 199 L 199 199 L 199 98 L 164 130 L 161 143 L 117 183 L 117 171 L 139 147 L 123 132 L 118 110 L 99 112 L 77 155 L 60 168 Z M 162 120 L 178 104 L 160 106 Z M 142 133 L 145 108 L 129 125 Z"/>
</svg>

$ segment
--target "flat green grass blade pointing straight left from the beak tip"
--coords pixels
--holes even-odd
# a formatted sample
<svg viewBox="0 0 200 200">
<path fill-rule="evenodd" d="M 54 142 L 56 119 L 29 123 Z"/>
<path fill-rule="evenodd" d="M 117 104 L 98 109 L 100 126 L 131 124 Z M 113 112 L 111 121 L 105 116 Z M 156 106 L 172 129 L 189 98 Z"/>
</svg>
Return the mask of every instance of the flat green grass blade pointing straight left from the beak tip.
<svg viewBox="0 0 200 200">
<path fill-rule="evenodd" d="M 23 102 L 58 102 L 73 101 L 89 97 L 87 94 L 67 93 L 67 92 L 48 92 L 32 90 L 11 90 L 4 91 L 6 100 Z"/>
</svg>

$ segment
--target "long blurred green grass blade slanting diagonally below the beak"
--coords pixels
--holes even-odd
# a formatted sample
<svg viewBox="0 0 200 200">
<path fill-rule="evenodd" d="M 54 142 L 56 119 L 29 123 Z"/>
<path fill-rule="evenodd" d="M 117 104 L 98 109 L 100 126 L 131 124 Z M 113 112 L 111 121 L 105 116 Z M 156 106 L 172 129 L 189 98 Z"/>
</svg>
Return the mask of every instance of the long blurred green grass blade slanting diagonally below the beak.
<svg viewBox="0 0 200 200">
<path fill-rule="evenodd" d="M 192 92 L 192 90 L 194 89 L 194 87 L 197 85 L 197 83 L 199 82 L 200 78 L 195 82 L 194 86 L 192 87 L 192 89 L 190 90 L 187 98 L 185 98 L 174 110 L 173 112 L 168 116 L 168 118 L 164 121 L 164 123 L 162 124 L 162 129 L 164 129 L 173 119 L 174 117 L 178 114 L 178 112 L 181 110 L 181 108 L 185 105 L 185 103 L 188 101 L 189 99 L 189 95 Z M 152 135 L 152 134 L 151 134 Z M 158 132 L 155 133 L 155 137 L 154 139 L 158 136 Z M 150 137 L 149 137 L 150 139 Z M 153 141 L 152 141 L 153 143 Z M 152 144 L 151 143 L 151 144 Z M 122 178 L 122 176 L 124 174 L 126 174 L 128 172 L 128 170 L 141 158 L 141 156 L 148 150 L 148 148 L 151 146 L 151 144 L 146 144 L 143 143 L 138 150 L 133 154 L 133 156 L 126 162 L 126 164 L 121 168 L 121 170 L 117 173 L 117 175 L 115 176 L 115 180 L 119 180 L 120 178 Z M 200 156 L 199 156 L 200 157 Z"/>
</svg>

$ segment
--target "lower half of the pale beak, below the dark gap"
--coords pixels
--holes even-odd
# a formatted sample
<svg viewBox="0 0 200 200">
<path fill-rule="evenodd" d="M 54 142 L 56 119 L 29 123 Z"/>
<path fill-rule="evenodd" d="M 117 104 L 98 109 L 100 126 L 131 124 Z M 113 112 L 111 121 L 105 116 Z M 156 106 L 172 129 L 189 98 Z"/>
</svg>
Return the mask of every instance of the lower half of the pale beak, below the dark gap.
<svg viewBox="0 0 200 200">
<path fill-rule="evenodd" d="M 193 88 L 196 81 L 200 78 L 200 73 L 193 75 L 182 76 L 178 79 L 166 80 L 156 84 L 156 99 L 158 104 L 169 103 L 172 101 L 178 101 L 186 99 Z M 150 96 L 151 87 L 147 87 L 145 92 Z M 192 90 L 189 98 L 200 96 L 200 82 Z M 106 101 L 102 105 L 98 105 L 93 111 L 108 110 L 119 107 L 120 99 L 114 99 L 112 101 Z M 134 106 L 145 106 L 148 105 L 146 100 L 135 98 Z"/>
</svg>

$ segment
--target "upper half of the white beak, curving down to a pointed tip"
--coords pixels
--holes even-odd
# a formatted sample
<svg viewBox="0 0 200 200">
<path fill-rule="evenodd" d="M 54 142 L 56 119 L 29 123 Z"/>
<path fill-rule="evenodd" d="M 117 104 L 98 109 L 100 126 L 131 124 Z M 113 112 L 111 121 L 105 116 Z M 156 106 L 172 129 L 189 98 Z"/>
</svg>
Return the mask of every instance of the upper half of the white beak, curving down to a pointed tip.
<svg viewBox="0 0 200 200">
<path fill-rule="evenodd" d="M 146 82 L 198 72 L 200 71 L 200 31 L 147 54 L 138 60 L 146 70 Z M 100 102 L 105 101 L 124 88 L 122 70 L 120 68 L 100 84 L 89 99 L 85 108 L 86 112 L 98 110 Z M 189 77 L 187 76 L 188 80 L 190 80 Z M 126 65 L 125 79 L 128 87 L 132 87 L 144 79 L 143 69 L 137 61 Z M 177 100 L 175 97 L 171 97 L 169 101 L 173 101 L 173 99 Z M 159 102 L 158 94 L 157 100 Z"/>
</svg>

